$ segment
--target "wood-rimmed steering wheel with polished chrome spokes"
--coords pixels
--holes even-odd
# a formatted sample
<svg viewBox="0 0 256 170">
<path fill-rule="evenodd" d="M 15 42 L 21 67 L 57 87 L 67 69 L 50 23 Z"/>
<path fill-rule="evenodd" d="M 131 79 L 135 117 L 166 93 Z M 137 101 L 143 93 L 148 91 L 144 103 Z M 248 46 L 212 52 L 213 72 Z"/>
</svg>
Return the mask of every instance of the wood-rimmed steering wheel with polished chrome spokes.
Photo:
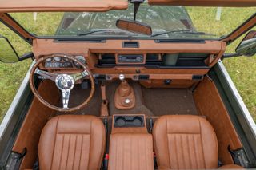
<svg viewBox="0 0 256 170">
<path fill-rule="evenodd" d="M 48 59 L 50 57 L 66 57 L 66 58 L 70 59 L 70 61 L 74 61 L 74 62 L 78 63 L 79 65 L 81 65 L 83 71 L 81 73 L 65 74 L 65 73 L 50 73 L 50 72 L 38 69 L 38 66 L 41 65 L 43 63 L 43 61 L 45 61 L 46 59 Z M 55 85 L 57 86 L 57 88 L 60 89 L 62 92 L 62 103 L 63 103 L 62 108 L 51 105 L 49 102 L 45 101 L 40 96 L 40 94 L 38 93 L 38 90 L 35 88 L 35 85 L 34 85 L 34 74 L 38 74 L 38 75 L 44 77 L 45 79 L 49 79 L 49 80 L 55 82 Z M 90 95 L 89 95 L 89 97 L 86 98 L 85 101 L 82 102 L 81 105 L 78 105 L 73 108 L 69 108 L 68 106 L 69 106 L 69 100 L 70 100 L 70 91 L 74 88 L 75 82 L 78 80 L 81 80 L 84 77 L 90 78 L 90 83 L 91 83 Z M 94 95 L 95 85 L 94 85 L 93 74 L 90 72 L 90 69 L 84 63 L 82 63 L 82 61 L 79 61 L 75 57 L 66 55 L 66 54 L 53 54 L 50 56 L 41 57 L 34 64 L 34 66 L 31 69 L 31 72 L 30 72 L 30 88 L 31 88 L 32 92 L 34 93 L 34 96 L 38 98 L 38 101 L 42 102 L 43 105 L 46 105 L 50 109 L 54 109 L 59 112 L 73 112 L 78 109 L 81 109 L 82 107 L 84 107 L 88 104 L 88 102 Z"/>
</svg>

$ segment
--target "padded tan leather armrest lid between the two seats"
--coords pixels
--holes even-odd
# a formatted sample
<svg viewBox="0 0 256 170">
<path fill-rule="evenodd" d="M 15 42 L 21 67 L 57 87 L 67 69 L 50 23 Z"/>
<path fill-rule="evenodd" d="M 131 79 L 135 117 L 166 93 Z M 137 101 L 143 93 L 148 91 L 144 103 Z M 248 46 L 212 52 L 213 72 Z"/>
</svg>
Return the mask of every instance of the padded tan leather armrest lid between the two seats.
<svg viewBox="0 0 256 170">
<path fill-rule="evenodd" d="M 111 134 L 109 156 L 109 170 L 154 169 L 152 135 L 148 133 Z"/>
</svg>

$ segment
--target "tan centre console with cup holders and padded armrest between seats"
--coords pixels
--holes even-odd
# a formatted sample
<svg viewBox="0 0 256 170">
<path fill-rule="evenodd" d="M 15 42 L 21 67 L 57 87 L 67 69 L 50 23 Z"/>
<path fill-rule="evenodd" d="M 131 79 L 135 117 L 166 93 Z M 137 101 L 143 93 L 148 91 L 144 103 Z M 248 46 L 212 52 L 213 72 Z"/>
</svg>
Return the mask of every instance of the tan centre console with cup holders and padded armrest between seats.
<svg viewBox="0 0 256 170">
<path fill-rule="evenodd" d="M 147 132 L 145 115 L 113 116 L 109 157 L 110 170 L 154 169 L 153 137 Z"/>
</svg>

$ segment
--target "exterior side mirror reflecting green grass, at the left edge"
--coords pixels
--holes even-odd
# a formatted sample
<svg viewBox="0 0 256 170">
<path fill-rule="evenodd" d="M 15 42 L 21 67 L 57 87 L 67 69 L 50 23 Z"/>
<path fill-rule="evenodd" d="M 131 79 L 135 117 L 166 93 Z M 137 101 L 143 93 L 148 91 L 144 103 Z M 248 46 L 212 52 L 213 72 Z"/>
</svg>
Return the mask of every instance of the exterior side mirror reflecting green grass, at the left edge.
<svg viewBox="0 0 256 170">
<path fill-rule="evenodd" d="M 0 61 L 13 63 L 19 61 L 18 54 L 9 40 L 0 36 Z"/>
</svg>

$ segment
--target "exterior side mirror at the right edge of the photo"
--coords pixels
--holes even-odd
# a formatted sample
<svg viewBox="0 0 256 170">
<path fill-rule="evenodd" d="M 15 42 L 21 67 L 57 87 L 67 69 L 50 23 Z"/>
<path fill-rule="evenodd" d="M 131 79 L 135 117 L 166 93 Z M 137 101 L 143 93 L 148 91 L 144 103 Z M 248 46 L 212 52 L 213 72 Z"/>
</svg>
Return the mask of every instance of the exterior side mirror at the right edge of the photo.
<svg viewBox="0 0 256 170">
<path fill-rule="evenodd" d="M 256 31 L 250 31 L 235 51 L 244 56 L 253 56 L 256 53 Z"/>
</svg>

